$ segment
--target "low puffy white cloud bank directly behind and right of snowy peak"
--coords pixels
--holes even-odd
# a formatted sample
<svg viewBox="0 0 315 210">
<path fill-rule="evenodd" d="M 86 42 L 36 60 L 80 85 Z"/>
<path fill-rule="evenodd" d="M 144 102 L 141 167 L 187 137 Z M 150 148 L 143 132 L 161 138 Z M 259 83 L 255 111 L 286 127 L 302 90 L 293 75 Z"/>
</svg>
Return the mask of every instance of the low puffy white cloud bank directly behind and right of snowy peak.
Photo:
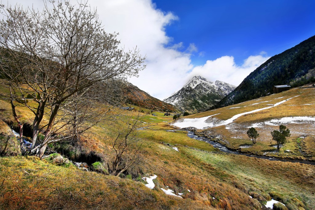
<svg viewBox="0 0 315 210">
<path fill-rule="evenodd" d="M 251 55 L 244 60 L 242 65 L 237 65 L 233 56 L 223 56 L 216 60 L 207 60 L 204 65 L 194 67 L 186 80 L 200 75 L 212 82 L 220 80 L 237 86 L 250 72 L 254 71 L 269 58 L 261 54 Z"/>
</svg>

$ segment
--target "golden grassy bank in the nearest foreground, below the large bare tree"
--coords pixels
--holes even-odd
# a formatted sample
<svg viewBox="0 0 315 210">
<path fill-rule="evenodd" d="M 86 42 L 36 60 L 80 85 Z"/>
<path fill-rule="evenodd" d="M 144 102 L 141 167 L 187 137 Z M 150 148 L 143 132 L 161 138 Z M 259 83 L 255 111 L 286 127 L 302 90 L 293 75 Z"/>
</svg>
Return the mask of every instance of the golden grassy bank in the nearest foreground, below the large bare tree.
<svg viewBox="0 0 315 210">
<path fill-rule="evenodd" d="M 0 209 L 213 209 L 140 182 L 34 157 L 2 157 L 0 172 Z"/>
</svg>

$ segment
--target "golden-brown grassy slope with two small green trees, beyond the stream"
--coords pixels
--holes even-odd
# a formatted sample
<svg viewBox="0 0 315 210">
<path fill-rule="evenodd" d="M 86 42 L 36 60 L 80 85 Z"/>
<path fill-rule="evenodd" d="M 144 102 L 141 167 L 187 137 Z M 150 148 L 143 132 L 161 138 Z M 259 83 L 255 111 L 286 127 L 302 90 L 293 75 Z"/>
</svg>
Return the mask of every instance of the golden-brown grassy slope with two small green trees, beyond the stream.
<svg viewBox="0 0 315 210">
<path fill-rule="evenodd" d="M 187 116 L 187 118 L 204 117 L 220 113 L 214 117 L 220 120 L 226 120 L 239 113 L 264 108 L 270 106 L 267 104 L 273 105 L 282 100 L 292 98 L 289 101 L 286 101 L 283 104 L 278 105 L 276 107 L 254 112 L 251 114 L 246 114 L 237 118 L 236 120 L 233 121 L 233 123 L 229 124 L 228 126 L 232 127 L 232 129 L 226 129 L 226 126 L 219 126 L 215 128 L 209 128 L 207 129 L 207 131 L 213 134 L 214 133 L 220 134 L 221 139 L 226 140 L 229 143 L 227 144 L 227 146 L 230 148 L 240 149 L 239 147 L 242 145 L 251 146 L 250 148 L 240 149 L 242 152 L 249 152 L 259 155 L 266 153 L 268 156 L 281 156 L 298 159 L 307 158 L 310 160 L 315 160 L 314 151 L 312 150 L 313 147 L 312 145 L 314 143 L 312 140 L 310 140 L 314 139 L 313 122 L 311 124 L 309 123 L 286 124 L 286 126 L 289 129 L 291 129 L 291 136 L 287 138 L 288 142 L 276 154 L 274 154 L 274 152 L 276 152 L 275 151 L 276 148 L 273 147 L 273 145 L 275 145 L 276 142 L 272 140 L 270 132 L 274 129 L 278 129 L 278 126 L 264 125 L 263 127 L 256 128 L 260 133 L 260 137 L 258 138 L 258 143 L 255 145 L 252 144 L 251 139 L 248 138 L 248 136 L 246 135 L 248 127 L 252 126 L 254 123 L 265 122 L 271 119 L 279 119 L 282 117 L 315 116 L 314 90 L 315 88 L 294 88 L 279 94 L 272 94 L 270 96 L 262 97 L 251 101 L 246 101 L 236 105 L 223 107 L 217 110 L 206 111 L 195 115 L 190 115 Z M 268 102 L 253 105 L 255 103 L 263 101 Z M 230 109 L 232 107 L 240 108 Z M 305 139 L 298 139 L 301 135 L 305 135 L 303 133 L 306 133 L 306 136 L 308 137 Z M 223 141 L 221 141 L 221 143 L 226 144 Z M 291 150 L 291 152 L 287 153 L 285 152 L 285 150 Z"/>
</svg>

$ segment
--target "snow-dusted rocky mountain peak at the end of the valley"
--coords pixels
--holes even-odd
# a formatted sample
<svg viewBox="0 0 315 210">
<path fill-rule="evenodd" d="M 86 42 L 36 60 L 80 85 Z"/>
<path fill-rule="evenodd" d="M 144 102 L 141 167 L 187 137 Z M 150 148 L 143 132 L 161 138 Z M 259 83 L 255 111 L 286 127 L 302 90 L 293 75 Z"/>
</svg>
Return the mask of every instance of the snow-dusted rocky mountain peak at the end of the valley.
<svg viewBox="0 0 315 210">
<path fill-rule="evenodd" d="M 210 82 L 201 76 L 194 76 L 184 87 L 163 101 L 183 111 L 203 111 L 215 105 L 235 88 L 226 82 Z"/>
</svg>

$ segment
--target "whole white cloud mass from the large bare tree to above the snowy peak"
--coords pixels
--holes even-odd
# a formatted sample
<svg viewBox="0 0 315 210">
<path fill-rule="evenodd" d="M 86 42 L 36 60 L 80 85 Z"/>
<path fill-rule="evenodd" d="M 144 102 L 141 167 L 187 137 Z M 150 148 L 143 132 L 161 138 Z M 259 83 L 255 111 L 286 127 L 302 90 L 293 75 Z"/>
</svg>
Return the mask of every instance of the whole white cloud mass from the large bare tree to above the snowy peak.
<svg viewBox="0 0 315 210">
<path fill-rule="evenodd" d="M 16 2 L 23 6 L 33 5 L 39 10 L 43 8 L 42 0 Z M 71 3 L 77 1 L 71 0 Z M 119 32 L 122 47 L 132 49 L 137 46 L 141 54 L 146 55 L 147 68 L 130 82 L 158 99 L 168 97 L 192 76 L 199 74 L 210 81 L 218 79 L 238 85 L 267 59 L 265 54 L 250 56 L 238 66 L 232 56 L 224 56 L 194 67 L 191 56 L 198 53 L 194 43 L 187 48 L 185 45 L 188 43 L 182 42 L 166 47 L 172 38 L 167 36 L 165 27 L 179 17 L 157 9 L 151 0 L 89 0 L 88 3 L 97 9 L 106 32 Z M 199 56 L 203 55 L 204 52 L 199 53 Z"/>
</svg>

